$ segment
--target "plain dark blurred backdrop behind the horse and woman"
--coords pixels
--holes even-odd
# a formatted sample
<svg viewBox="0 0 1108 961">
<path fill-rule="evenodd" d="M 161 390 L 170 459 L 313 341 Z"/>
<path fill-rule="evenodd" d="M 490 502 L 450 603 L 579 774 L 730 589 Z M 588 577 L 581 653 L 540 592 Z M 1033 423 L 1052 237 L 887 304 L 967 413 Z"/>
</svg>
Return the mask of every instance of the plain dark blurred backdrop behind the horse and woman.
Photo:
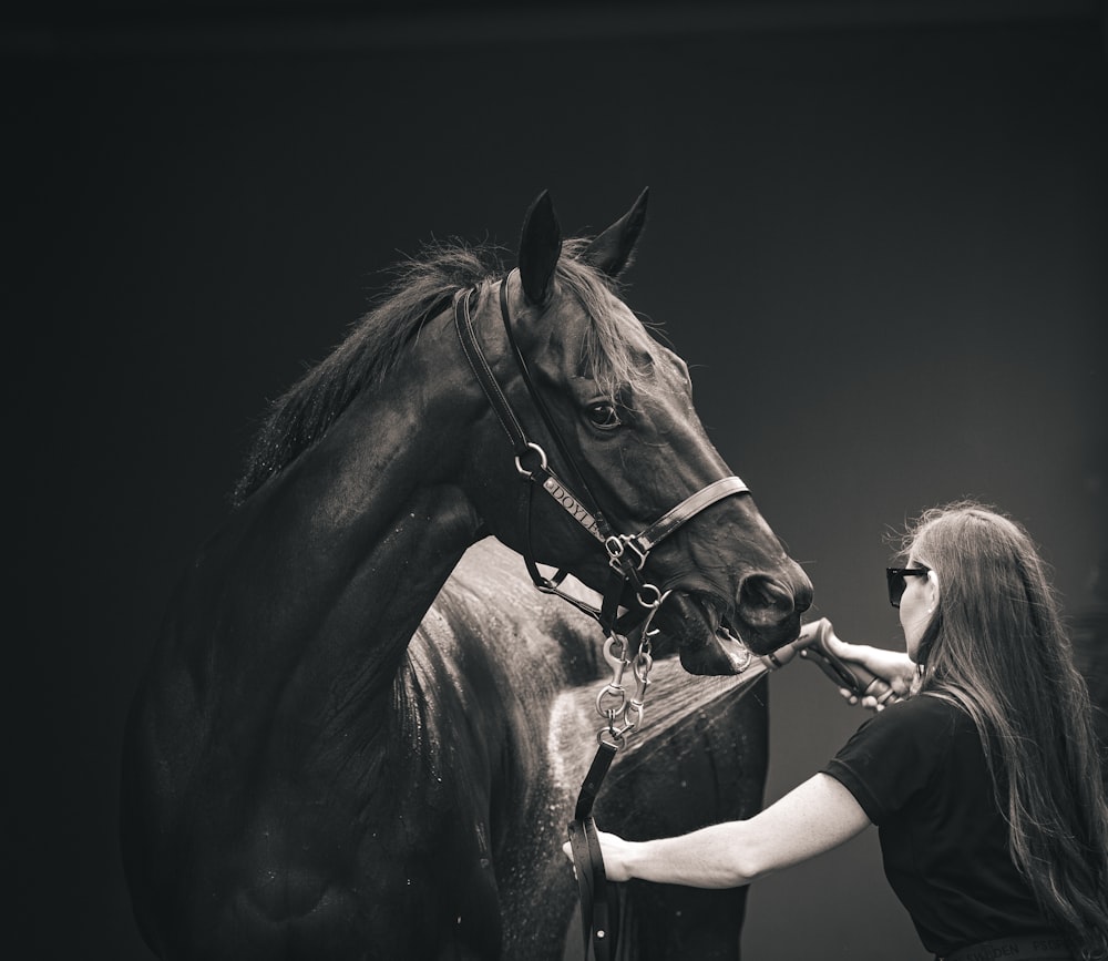
<svg viewBox="0 0 1108 961">
<path fill-rule="evenodd" d="M 1025 522 L 1067 612 L 1102 623 L 1100 3 L 3 17 L 8 832 L 33 957 L 148 958 L 123 718 L 265 402 L 400 256 L 514 249 L 544 187 L 568 233 L 652 188 L 627 299 L 840 636 L 899 644 L 888 534 L 963 495 Z M 862 719 L 814 668 L 776 676 L 767 799 Z M 923 959 L 873 834 L 757 886 L 746 957 Z"/>
</svg>

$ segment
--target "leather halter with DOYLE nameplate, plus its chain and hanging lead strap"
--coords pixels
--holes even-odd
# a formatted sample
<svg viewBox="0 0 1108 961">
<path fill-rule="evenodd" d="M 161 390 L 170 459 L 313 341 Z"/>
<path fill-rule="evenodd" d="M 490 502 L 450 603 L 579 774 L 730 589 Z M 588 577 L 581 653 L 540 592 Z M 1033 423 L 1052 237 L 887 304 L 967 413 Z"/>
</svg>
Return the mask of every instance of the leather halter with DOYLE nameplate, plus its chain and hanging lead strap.
<svg viewBox="0 0 1108 961">
<path fill-rule="evenodd" d="M 540 591 L 555 594 L 568 601 L 599 622 L 607 637 L 605 657 L 615 669 L 613 681 L 597 697 L 597 712 L 607 718 L 607 728 L 602 728 L 597 735 L 599 746 L 582 784 L 574 809 L 574 819 L 568 826 L 582 908 L 585 953 L 587 957 L 591 941 L 596 961 L 607 961 L 614 955 L 616 948 L 617 901 L 614 892 L 605 883 L 604 860 L 596 836 L 596 825 L 592 818 L 592 808 L 604 776 L 623 743 L 624 735 L 633 730 L 642 718 L 643 698 L 652 663 L 648 627 L 654 614 L 669 594 L 668 591 L 663 591 L 645 580 L 643 569 L 650 551 L 683 524 L 717 501 L 732 494 L 746 493 L 749 488 L 737 477 L 724 477 L 690 494 L 637 534 L 623 534 L 613 530 L 589 491 L 588 484 L 557 429 L 542 395 L 536 389 L 526 358 L 520 350 L 509 308 L 507 285 L 510 277 L 511 274 L 501 282 L 500 286 L 500 313 L 504 323 L 504 331 L 515 365 L 531 397 L 531 402 L 538 411 L 547 432 L 557 447 L 561 460 L 572 478 L 571 482 L 567 483 L 551 470 L 546 451 L 527 437 L 478 344 L 470 314 L 470 300 L 475 293 L 474 288 L 459 290 L 454 295 L 454 327 L 458 330 L 458 338 L 461 341 L 465 359 L 512 443 L 515 453 L 515 469 L 520 477 L 527 482 L 521 510 L 524 525 L 523 558 L 531 579 Z M 583 530 L 599 542 L 606 552 L 612 573 L 598 609 L 561 590 L 562 582 L 567 574 L 566 571 L 561 570 L 553 577 L 546 577 L 538 570 L 531 542 L 531 495 L 536 489 L 544 491 L 553 499 L 554 503 L 558 504 Z M 628 611 L 617 622 L 620 600 L 626 595 L 628 586 L 634 587 L 636 603 L 640 610 Z M 645 623 L 643 623 L 644 621 Z M 617 633 L 625 634 L 625 625 L 627 624 L 630 624 L 632 627 L 640 625 L 642 630 L 639 651 L 634 661 L 638 689 L 629 701 L 622 686 L 624 669 L 633 664 L 628 655 L 629 645 L 626 637 L 620 638 L 622 654 L 619 660 L 611 655 Z M 605 696 L 612 694 L 618 695 L 618 708 L 603 706 Z M 629 718 L 627 717 L 628 713 L 630 714 Z M 615 726 L 617 714 L 622 714 L 625 718 L 624 726 L 619 728 Z"/>
</svg>

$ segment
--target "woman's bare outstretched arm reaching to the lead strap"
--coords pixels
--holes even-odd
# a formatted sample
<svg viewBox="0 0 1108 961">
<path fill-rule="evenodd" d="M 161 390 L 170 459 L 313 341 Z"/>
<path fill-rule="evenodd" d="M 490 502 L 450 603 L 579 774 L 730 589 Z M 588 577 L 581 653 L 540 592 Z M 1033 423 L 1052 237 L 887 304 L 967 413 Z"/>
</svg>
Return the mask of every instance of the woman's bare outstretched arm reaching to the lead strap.
<svg viewBox="0 0 1108 961">
<path fill-rule="evenodd" d="M 735 888 L 830 851 L 869 826 L 854 796 L 818 774 L 748 820 L 653 841 L 598 835 L 611 881 Z M 563 850 L 572 857 L 568 844 Z"/>
</svg>

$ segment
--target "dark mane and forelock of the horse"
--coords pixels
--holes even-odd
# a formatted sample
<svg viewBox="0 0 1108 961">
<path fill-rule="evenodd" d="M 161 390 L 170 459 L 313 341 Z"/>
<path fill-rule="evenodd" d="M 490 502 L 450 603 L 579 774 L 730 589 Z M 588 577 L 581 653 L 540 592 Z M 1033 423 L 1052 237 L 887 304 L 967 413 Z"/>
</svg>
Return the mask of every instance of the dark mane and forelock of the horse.
<svg viewBox="0 0 1108 961">
<path fill-rule="evenodd" d="M 568 239 L 557 277 L 593 319 L 582 344 L 582 365 L 605 392 L 640 379 L 626 344 L 625 318 L 611 309 L 614 282 L 581 259 L 586 239 Z M 417 339 L 422 326 L 461 289 L 483 289 L 504 275 L 501 251 L 461 242 L 425 247 L 401 262 L 382 299 L 361 317 L 330 355 L 309 368 L 265 415 L 235 484 L 240 505 L 319 440 L 367 387 L 380 385 Z"/>
</svg>

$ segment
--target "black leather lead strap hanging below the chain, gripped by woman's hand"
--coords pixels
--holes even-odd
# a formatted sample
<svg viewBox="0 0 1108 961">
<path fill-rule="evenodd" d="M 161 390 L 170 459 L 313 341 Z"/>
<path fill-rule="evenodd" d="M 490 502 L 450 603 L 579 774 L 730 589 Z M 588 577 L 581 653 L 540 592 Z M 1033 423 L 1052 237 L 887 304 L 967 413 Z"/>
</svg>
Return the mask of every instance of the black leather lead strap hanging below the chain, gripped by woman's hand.
<svg viewBox="0 0 1108 961">
<path fill-rule="evenodd" d="M 570 850 L 577 876 L 577 900 L 581 903 L 582 941 L 585 958 L 588 958 L 592 944 L 595 961 L 609 961 L 615 957 L 619 928 L 617 896 L 604 873 L 604 855 L 592 816 L 593 802 L 617 750 L 616 745 L 601 742 L 581 785 L 568 827 Z"/>
</svg>

